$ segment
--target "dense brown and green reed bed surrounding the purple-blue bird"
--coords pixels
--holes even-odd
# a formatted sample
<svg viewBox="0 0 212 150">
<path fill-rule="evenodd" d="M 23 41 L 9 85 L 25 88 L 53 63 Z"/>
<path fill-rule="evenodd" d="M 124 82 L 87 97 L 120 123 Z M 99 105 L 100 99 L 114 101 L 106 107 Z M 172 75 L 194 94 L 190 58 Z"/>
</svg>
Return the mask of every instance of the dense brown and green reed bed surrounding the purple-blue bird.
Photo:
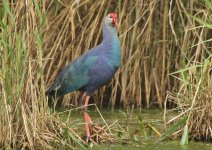
<svg viewBox="0 0 212 150">
<path fill-rule="evenodd" d="M 3 0 L 0 145 L 73 148 L 64 143 L 59 131 L 66 124 L 50 113 L 45 91 L 63 66 L 101 41 L 102 19 L 111 11 L 119 14 L 122 67 L 107 91 L 94 94 L 95 101 L 108 101 L 112 109 L 162 108 L 169 91 L 169 107 L 189 109 L 189 135 L 211 138 L 209 1 Z M 63 101 L 76 100 L 72 93 Z M 80 137 L 66 128 L 68 139 L 79 144 Z"/>
</svg>

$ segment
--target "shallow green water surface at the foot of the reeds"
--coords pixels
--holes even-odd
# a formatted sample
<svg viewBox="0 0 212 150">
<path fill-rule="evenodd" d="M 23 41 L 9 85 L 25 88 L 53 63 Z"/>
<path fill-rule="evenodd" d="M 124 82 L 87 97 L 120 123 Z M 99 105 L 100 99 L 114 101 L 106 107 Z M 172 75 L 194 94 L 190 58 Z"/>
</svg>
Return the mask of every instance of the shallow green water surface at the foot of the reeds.
<svg viewBox="0 0 212 150">
<path fill-rule="evenodd" d="M 75 129 L 78 129 L 79 132 L 82 132 L 84 129 L 83 124 L 83 114 L 80 111 L 72 110 L 69 113 L 64 114 L 64 118 L 67 118 L 69 114 L 69 119 L 72 120 L 72 124 Z M 104 124 L 104 121 L 111 125 L 114 122 L 118 122 L 123 131 L 126 131 L 127 137 L 131 140 L 127 142 L 114 142 L 113 144 L 99 144 L 91 146 L 91 149 L 94 150 L 212 150 L 212 143 L 201 143 L 190 141 L 187 145 L 180 145 L 180 141 L 164 141 L 157 142 L 159 135 L 152 131 L 148 125 L 155 128 L 158 132 L 164 132 L 163 126 L 163 111 L 158 109 L 150 110 L 115 110 L 111 112 L 110 110 L 101 110 L 101 113 L 98 110 L 89 108 L 89 114 L 93 122 L 98 124 Z M 103 117 L 101 117 L 101 115 Z M 169 117 L 175 116 L 176 114 L 169 113 Z M 142 132 L 141 124 L 138 123 L 138 118 L 140 117 L 144 125 L 144 132 Z M 81 130 L 81 131 L 80 131 Z M 114 132 L 113 132 L 114 133 Z M 116 133 L 114 133 L 116 134 Z M 125 135 L 123 135 L 125 136 Z M 125 136 L 126 137 L 126 136 Z M 135 137 L 135 138 L 134 138 Z M 135 140 L 136 139 L 136 140 Z M 125 143 L 125 144 L 122 144 Z M 127 143 L 127 144 L 126 144 Z"/>
</svg>

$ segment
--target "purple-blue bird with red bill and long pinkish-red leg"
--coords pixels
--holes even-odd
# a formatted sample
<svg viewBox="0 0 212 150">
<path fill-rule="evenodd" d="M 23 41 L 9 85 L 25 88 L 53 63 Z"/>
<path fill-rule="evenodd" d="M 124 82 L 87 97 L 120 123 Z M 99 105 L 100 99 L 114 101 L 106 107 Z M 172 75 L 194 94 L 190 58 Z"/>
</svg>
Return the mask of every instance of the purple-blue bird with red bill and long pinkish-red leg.
<svg viewBox="0 0 212 150">
<path fill-rule="evenodd" d="M 85 95 L 84 121 L 86 137 L 90 139 L 91 117 L 87 105 L 92 93 L 108 84 L 121 65 L 121 44 L 117 34 L 118 15 L 109 13 L 103 20 L 102 42 L 65 66 L 48 88 L 48 97 L 61 97 L 80 91 Z"/>
</svg>

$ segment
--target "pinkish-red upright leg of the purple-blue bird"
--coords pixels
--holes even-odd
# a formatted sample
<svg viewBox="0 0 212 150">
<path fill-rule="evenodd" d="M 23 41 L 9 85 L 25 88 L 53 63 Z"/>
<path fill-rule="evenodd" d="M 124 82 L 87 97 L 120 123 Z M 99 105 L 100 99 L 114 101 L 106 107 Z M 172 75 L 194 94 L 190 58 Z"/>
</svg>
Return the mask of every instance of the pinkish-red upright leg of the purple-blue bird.
<svg viewBox="0 0 212 150">
<path fill-rule="evenodd" d="M 88 140 L 90 139 L 90 136 L 91 136 L 89 126 L 90 126 L 90 123 L 92 123 L 91 118 L 87 112 L 88 111 L 87 106 L 88 106 L 89 99 L 90 99 L 90 96 L 86 96 L 85 104 L 84 104 L 85 132 L 86 132 L 86 136 L 87 136 Z"/>
</svg>

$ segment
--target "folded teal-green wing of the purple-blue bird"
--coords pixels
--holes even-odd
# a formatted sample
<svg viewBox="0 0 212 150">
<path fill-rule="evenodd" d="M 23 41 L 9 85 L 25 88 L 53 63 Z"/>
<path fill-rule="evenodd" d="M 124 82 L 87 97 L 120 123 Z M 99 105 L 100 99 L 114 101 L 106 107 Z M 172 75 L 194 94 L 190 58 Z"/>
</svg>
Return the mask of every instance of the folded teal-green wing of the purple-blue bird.
<svg viewBox="0 0 212 150">
<path fill-rule="evenodd" d="M 86 86 L 90 79 L 88 71 L 96 60 L 97 56 L 85 54 L 66 66 L 47 91 L 48 95 L 61 96 Z"/>
</svg>

